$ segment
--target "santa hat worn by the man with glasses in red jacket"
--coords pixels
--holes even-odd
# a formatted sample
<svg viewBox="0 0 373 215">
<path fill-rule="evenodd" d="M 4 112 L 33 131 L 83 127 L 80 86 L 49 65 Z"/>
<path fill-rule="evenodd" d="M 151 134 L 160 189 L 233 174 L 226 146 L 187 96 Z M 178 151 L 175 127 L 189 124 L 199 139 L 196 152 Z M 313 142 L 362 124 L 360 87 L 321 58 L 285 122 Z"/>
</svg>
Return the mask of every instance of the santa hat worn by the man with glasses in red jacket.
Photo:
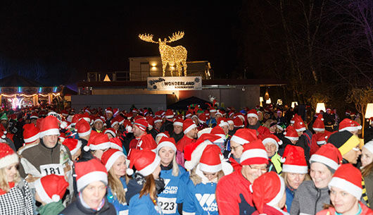
<svg viewBox="0 0 373 215">
<path fill-rule="evenodd" d="M 240 164 L 268 164 L 268 155 L 262 140 L 253 140 L 250 144 L 243 145 Z"/>
</svg>

